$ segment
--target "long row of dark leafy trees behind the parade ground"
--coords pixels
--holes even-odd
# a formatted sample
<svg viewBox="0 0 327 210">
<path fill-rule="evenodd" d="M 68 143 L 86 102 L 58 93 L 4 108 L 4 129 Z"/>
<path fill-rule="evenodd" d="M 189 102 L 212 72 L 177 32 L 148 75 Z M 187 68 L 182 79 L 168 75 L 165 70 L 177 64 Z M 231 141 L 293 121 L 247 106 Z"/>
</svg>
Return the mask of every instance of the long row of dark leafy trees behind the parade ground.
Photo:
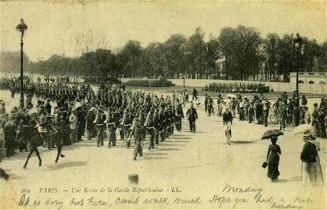
<svg viewBox="0 0 327 210">
<path fill-rule="evenodd" d="M 265 38 L 252 27 L 224 27 L 217 37 L 197 27 L 194 34 L 172 34 L 163 43 L 153 42 L 146 48 L 139 41 L 127 43 L 114 52 L 99 48 L 80 57 L 53 55 L 48 60 L 29 62 L 25 55 L 25 70 L 46 75 L 67 73 L 104 78 L 225 78 L 230 80 L 271 80 L 279 75 L 285 79 L 297 68 L 297 50 L 293 34 L 267 34 Z M 2 55 L 6 55 L 3 57 Z M 19 53 L 1 55 L 1 71 L 20 68 Z M 9 57 L 9 58 L 8 58 Z M 15 64 L 12 64 L 12 63 Z M 299 50 L 299 71 L 326 71 L 327 41 L 319 45 L 302 37 Z M 6 65 L 4 65 L 6 64 Z"/>
</svg>

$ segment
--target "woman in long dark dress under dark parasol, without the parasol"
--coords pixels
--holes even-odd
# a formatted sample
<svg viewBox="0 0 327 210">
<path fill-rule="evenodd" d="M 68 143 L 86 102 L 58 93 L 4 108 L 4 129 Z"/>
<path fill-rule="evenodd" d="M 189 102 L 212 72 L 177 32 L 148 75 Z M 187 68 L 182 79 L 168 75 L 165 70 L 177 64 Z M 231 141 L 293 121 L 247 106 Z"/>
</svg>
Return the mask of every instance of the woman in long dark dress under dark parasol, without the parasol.
<svg viewBox="0 0 327 210">
<path fill-rule="evenodd" d="M 267 153 L 267 163 L 268 163 L 268 177 L 272 181 L 277 181 L 279 176 L 278 165 L 279 165 L 279 155 L 281 154 L 281 148 L 276 144 L 277 137 L 271 138 L 272 144 L 270 144 Z"/>
</svg>

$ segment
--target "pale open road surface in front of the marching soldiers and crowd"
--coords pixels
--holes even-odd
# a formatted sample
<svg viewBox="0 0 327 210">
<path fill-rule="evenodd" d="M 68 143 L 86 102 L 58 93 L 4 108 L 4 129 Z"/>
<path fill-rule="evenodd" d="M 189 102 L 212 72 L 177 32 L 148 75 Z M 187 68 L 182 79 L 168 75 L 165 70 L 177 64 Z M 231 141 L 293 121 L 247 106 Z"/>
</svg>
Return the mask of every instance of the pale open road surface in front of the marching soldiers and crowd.
<svg viewBox="0 0 327 210">
<path fill-rule="evenodd" d="M 278 125 L 263 127 L 261 125 L 249 124 L 235 120 L 232 128 L 232 144 L 228 146 L 223 136 L 221 118 L 208 117 L 204 111 L 199 111 L 197 120 L 197 133 L 188 130 L 188 121 L 183 120 L 180 133 L 175 132 L 173 137 L 161 143 L 153 151 L 148 151 L 144 146 L 144 156 L 137 161 L 132 160 L 132 148 L 126 149 L 124 142 L 118 140 L 116 147 L 97 148 L 95 139 L 84 140 L 72 146 L 64 146 L 65 158 L 60 158 L 55 164 L 57 151 L 41 150 L 43 160 L 39 167 L 36 155 L 32 155 L 27 169 L 22 169 L 27 153 L 18 153 L 15 158 L 6 158 L 0 163 L 0 167 L 11 175 L 11 180 L 1 180 L 1 198 L 9 199 L 8 202 L 1 200 L 1 205 L 15 204 L 17 207 L 22 196 L 21 190 L 28 188 L 32 190 L 32 198 L 41 200 L 39 208 L 58 208 L 55 204 L 46 206 L 46 196 L 64 200 L 64 207 L 69 206 L 72 197 L 87 199 L 88 193 L 71 193 L 74 189 L 84 188 L 130 188 L 133 187 L 128 181 L 129 174 L 139 175 L 140 188 L 159 188 L 164 193 L 102 193 L 97 194 L 97 199 L 109 200 L 110 204 L 105 208 L 144 208 L 141 200 L 149 197 L 168 197 L 169 205 L 149 204 L 148 208 L 215 208 L 239 209 L 256 208 L 270 209 L 274 204 L 292 204 L 293 207 L 326 209 L 326 186 L 306 186 L 301 183 L 300 151 L 302 141 L 291 140 L 291 128 L 286 128 L 285 135 L 279 138 L 277 144 L 281 147 L 279 162 L 279 181 L 270 182 L 267 178 L 267 169 L 261 167 L 267 155 L 270 141 L 260 140 L 262 134 L 268 129 L 278 129 Z M 118 137 L 118 133 L 117 133 Z M 319 139 L 322 151 L 321 167 L 323 176 L 326 178 L 326 140 Z M 108 141 L 106 141 L 106 145 Z M 326 179 L 325 179 L 326 180 Z M 250 193 L 227 193 L 226 186 L 235 188 L 260 189 Z M 4 186 L 4 188 L 3 188 Z M 57 188 L 60 193 L 39 193 L 40 188 Z M 172 193 L 172 188 L 179 188 L 181 193 Z M 64 192 L 63 190 L 69 190 Z M 42 190 L 41 190 L 42 191 Z M 255 191 L 255 192 L 254 192 Z M 300 192 L 300 193 L 299 193 Z M 259 194 L 258 194 L 259 193 Z M 258 196 L 255 199 L 255 196 Z M 132 195 L 134 197 L 132 197 Z M 151 195 L 151 196 L 150 196 Z M 214 195 L 219 197 L 230 197 L 232 202 L 221 203 L 223 199 L 214 202 Z M 261 195 L 261 197 L 260 197 Z M 301 198 L 309 198 L 314 203 L 297 202 L 297 195 Z M 139 196 L 138 204 L 116 204 L 117 197 L 120 199 L 135 200 Z M 196 200 L 200 197 L 200 206 L 196 204 L 176 204 L 176 197 L 181 199 Z M 260 198 L 258 198 L 260 197 Z M 272 198 L 270 198 L 272 197 Z M 285 202 L 281 202 L 282 197 Z M 236 199 L 247 199 L 240 204 Z M 270 198 L 270 200 L 269 200 Z M 265 199 L 265 202 L 260 202 Z M 260 201 L 258 201 L 260 200 Z M 257 202 L 258 201 L 258 202 Z M 43 203 L 42 203 L 43 202 Z M 199 202 L 199 201 L 197 201 Z M 219 206 L 221 205 L 221 206 Z M 4 206 L 3 206 L 4 207 Z M 8 207 L 8 206 L 7 206 Z M 33 206 L 27 206 L 32 208 Z M 77 206 L 78 207 L 78 206 Z M 78 207 L 90 209 L 90 206 Z M 104 207 L 92 207 L 104 208 Z M 275 207 L 274 207 L 275 208 Z M 274 209 L 273 208 L 273 209 Z"/>
</svg>

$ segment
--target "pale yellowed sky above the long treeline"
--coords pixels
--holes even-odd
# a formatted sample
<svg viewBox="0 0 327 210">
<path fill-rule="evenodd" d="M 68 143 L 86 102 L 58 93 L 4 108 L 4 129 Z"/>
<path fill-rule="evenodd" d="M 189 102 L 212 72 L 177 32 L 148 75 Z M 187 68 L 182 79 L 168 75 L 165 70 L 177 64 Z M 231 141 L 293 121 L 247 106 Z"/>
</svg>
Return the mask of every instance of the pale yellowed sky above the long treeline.
<svg viewBox="0 0 327 210">
<path fill-rule="evenodd" d="M 2 1 L 1 50 L 20 50 L 15 27 L 20 18 L 29 27 L 24 51 L 29 59 L 53 54 L 78 56 L 96 48 L 116 49 L 132 39 L 166 41 L 172 34 L 190 36 L 201 27 L 206 41 L 223 27 L 255 27 L 268 33 L 295 34 L 326 40 L 326 1 L 165 1 L 58 3 Z"/>
</svg>

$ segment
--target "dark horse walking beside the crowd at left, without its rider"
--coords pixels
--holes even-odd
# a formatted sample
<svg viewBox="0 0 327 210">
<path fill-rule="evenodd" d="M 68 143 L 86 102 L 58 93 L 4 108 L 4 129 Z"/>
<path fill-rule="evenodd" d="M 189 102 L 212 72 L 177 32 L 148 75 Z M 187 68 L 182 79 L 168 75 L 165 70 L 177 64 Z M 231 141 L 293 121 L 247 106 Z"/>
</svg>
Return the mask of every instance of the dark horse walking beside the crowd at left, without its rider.
<svg viewBox="0 0 327 210">
<path fill-rule="evenodd" d="M 53 143 L 57 146 L 58 148 L 58 153 L 57 153 L 57 158 L 55 159 L 55 163 L 58 162 L 59 160 L 59 155 L 60 157 L 64 158 L 64 155 L 61 154 L 62 152 L 62 129 L 58 126 L 51 126 L 50 130 L 45 134 L 45 137 L 42 137 L 41 134 L 38 132 L 36 127 L 32 127 L 27 125 L 25 130 L 25 134 L 27 139 L 29 139 L 31 143 L 31 148 L 29 151 L 29 155 L 27 155 L 27 160 L 24 165 L 24 169 L 27 167 L 27 162 L 29 161 L 29 158 L 31 157 L 32 153 L 35 151 L 36 155 L 39 158 L 39 166 L 42 165 L 42 160 L 38 151 L 38 146 L 43 145 L 43 141 L 46 140 L 46 143 L 51 147 Z"/>
</svg>

